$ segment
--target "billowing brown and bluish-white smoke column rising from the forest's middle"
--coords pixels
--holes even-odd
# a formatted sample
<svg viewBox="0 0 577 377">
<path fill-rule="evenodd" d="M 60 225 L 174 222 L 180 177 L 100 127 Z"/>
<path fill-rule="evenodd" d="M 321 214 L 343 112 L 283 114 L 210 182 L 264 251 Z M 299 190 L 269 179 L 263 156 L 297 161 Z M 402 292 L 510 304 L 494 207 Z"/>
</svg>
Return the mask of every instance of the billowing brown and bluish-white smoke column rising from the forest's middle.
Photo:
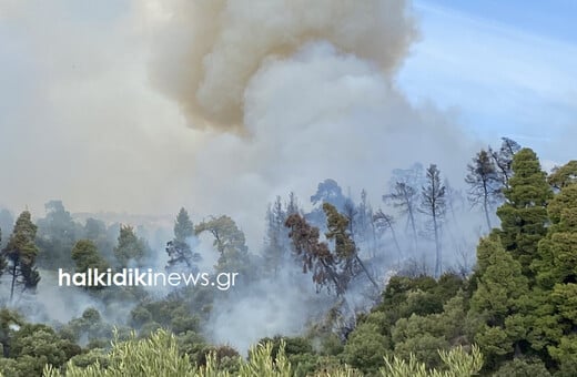
<svg viewBox="0 0 577 377">
<path fill-rule="evenodd" d="M 306 201 L 326 177 L 353 193 L 367 188 L 375 206 L 389 172 L 415 161 L 462 180 L 470 155 L 463 135 L 446 114 L 412 105 L 394 81 L 417 35 L 406 1 L 199 0 L 153 9 L 161 22 L 152 81 L 203 130 L 191 132 L 201 140 L 191 162 L 194 212 L 231 215 L 253 252 L 266 202 L 290 191 Z M 280 296 L 294 291 L 290 282 L 262 285 L 215 305 L 214 342 L 244 349 L 304 328 L 306 313 L 263 328 L 282 308 L 307 307 L 308 296 Z"/>
</svg>

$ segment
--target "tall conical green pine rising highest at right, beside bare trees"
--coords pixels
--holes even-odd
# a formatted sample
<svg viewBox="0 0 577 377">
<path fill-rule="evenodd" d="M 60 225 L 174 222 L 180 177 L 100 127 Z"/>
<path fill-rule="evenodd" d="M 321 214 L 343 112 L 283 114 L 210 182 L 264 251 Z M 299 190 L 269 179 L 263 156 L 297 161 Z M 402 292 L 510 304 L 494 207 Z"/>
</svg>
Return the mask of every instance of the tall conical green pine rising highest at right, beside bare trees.
<svg viewBox="0 0 577 377">
<path fill-rule="evenodd" d="M 497 210 L 503 246 L 519 261 L 523 273 L 533 277 L 532 262 L 537 244 L 547 233 L 547 202 L 553 191 L 547 184 L 539 160 L 530 149 L 523 149 L 513 159 L 513 177 L 504 190 L 506 202 Z"/>
</svg>

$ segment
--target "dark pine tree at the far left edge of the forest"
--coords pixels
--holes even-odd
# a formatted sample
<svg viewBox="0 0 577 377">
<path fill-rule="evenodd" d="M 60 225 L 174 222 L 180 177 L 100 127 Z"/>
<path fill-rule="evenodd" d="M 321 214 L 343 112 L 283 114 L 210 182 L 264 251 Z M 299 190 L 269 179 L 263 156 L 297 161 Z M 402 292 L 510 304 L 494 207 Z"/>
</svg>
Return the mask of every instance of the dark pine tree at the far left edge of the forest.
<svg viewBox="0 0 577 377">
<path fill-rule="evenodd" d="M 30 212 L 22 212 L 3 249 L 3 256 L 8 259 L 8 273 L 12 276 L 10 300 L 17 286 L 21 286 L 22 292 L 33 292 L 40 282 L 40 274 L 34 265 L 38 256 L 38 246 L 34 243 L 37 230 Z"/>
</svg>

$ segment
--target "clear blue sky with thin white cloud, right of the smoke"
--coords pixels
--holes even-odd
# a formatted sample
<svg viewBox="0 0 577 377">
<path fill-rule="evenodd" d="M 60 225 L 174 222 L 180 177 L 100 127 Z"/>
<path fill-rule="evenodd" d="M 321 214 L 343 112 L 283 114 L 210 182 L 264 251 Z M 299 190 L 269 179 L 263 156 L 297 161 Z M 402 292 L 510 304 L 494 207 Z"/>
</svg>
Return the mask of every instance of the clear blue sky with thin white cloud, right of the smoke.
<svg viewBox="0 0 577 377">
<path fill-rule="evenodd" d="M 544 160 L 575 159 L 577 2 L 416 1 L 423 39 L 399 82 L 456 108 L 472 133 L 509 135 Z"/>
</svg>

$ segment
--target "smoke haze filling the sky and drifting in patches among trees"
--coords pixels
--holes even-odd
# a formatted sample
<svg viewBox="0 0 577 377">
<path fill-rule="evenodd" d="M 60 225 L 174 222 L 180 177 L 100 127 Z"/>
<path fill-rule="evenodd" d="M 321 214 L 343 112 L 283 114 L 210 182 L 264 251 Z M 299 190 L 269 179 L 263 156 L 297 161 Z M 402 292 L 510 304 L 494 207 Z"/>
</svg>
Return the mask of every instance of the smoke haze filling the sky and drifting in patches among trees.
<svg viewBox="0 0 577 377">
<path fill-rule="evenodd" d="M 419 34 L 409 1 L 51 3 L 0 4 L 0 58 L 11 69 L 0 73 L 10 99 L 0 102 L 10 183 L 0 206 L 14 212 L 28 205 L 41 217 L 44 202 L 62 198 L 73 212 L 172 221 L 184 206 L 195 224 L 230 215 L 257 254 L 276 195 L 293 191 L 306 208 L 331 177 L 355 201 L 366 188 L 376 208 L 393 169 L 435 163 L 460 186 L 486 146 L 463 132 L 458 114 L 415 105 L 399 89 L 397 71 Z M 478 220 L 469 215 L 459 224 Z M 463 225 L 446 238 L 476 242 L 477 230 Z M 211 269 L 212 240 L 193 248 Z M 156 252 L 150 265 L 160 269 L 166 255 Z M 382 276 L 385 267 L 375 268 Z M 296 269 L 297 288 L 291 271 L 216 300 L 207 336 L 245 350 L 262 336 L 302 333 L 330 300 Z M 52 319 L 94 305 L 78 292 L 53 300 L 47 287 L 41 304 Z"/>
</svg>

